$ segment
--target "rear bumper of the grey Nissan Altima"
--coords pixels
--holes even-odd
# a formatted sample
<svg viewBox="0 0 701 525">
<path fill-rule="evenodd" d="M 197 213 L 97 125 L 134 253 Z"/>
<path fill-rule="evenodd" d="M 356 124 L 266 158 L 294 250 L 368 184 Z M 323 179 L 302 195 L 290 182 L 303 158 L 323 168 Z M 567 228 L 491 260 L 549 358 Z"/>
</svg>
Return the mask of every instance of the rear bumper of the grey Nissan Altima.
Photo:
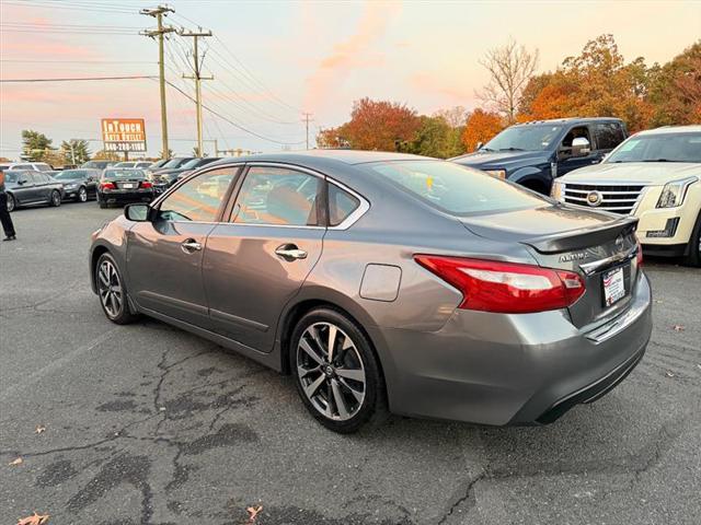
<svg viewBox="0 0 701 525">
<path fill-rule="evenodd" d="M 457 311 L 434 332 L 375 330 L 392 411 L 485 424 L 547 423 L 606 394 L 637 364 L 652 332 L 651 290 L 641 275 L 629 310 L 589 331 L 561 311 Z"/>
</svg>

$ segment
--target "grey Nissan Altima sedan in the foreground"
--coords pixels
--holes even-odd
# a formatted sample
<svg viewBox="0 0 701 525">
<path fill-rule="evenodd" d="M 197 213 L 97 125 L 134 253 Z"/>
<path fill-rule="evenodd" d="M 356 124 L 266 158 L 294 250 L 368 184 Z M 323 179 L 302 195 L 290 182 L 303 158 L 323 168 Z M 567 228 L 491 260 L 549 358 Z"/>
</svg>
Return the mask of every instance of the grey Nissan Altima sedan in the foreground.
<svg viewBox="0 0 701 525">
<path fill-rule="evenodd" d="M 549 423 L 643 357 L 635 226 L 434 159 L 279 153 L 128 206 L 90 272 L 114 323 L 145 314 L 289 373 L 337 432 L 390 411 Z"/>
</svg>

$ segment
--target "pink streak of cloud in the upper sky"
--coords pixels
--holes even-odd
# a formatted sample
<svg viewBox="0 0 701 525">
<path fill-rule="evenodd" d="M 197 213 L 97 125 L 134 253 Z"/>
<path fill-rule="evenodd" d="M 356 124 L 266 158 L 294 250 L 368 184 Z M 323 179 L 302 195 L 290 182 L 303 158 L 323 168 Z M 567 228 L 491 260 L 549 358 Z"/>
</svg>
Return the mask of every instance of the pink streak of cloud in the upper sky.
<svg viewBox="0 0 701 525">
<path fill-rule="evenodd" d="M 389 22 L 399 13 L 397 2 L 365 3 L 355 32 L 344 42 L 335 44 L 331 52 L 308 77 L 304 92 L 304 107 L 319 110 L 329 101 L 330 93 L 336 92 L 353 69 L 381 66 L 384 55 L 372 46 L 384 35 Z"/>
</svg>

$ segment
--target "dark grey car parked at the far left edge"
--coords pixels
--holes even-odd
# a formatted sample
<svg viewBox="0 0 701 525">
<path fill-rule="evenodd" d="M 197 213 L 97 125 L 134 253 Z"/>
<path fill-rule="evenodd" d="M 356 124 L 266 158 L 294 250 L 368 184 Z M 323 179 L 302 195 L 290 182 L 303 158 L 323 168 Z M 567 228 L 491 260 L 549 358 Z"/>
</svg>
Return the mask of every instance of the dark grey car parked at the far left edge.
<svg viewBox="0 0 701 525">
<path fill-rule="evenodd" d="M 4 172 L 8 210 L 32 205 L 61 206 L 64 185 L 35 170 Z"/>
</svg>

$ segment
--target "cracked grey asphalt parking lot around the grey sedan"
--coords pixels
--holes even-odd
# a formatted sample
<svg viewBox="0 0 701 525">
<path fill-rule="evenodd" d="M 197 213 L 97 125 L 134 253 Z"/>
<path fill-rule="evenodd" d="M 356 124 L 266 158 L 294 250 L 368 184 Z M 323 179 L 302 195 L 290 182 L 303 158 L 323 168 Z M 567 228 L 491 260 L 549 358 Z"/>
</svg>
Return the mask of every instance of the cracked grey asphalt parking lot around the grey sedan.
<svg viewBox="0 0 701 525">
<path fill-rule="evenodd" d="M 395 417 L 341 436 L 289 377 L 106 320 L 89 233 L 120 212 L 19 210 L 0 246 L 2 523 L 240 525 L 258 505 L 257 524 L 701 523 L 701 270 L 646 260 L 645 358 L 550 427 Z"/>
</svg>

